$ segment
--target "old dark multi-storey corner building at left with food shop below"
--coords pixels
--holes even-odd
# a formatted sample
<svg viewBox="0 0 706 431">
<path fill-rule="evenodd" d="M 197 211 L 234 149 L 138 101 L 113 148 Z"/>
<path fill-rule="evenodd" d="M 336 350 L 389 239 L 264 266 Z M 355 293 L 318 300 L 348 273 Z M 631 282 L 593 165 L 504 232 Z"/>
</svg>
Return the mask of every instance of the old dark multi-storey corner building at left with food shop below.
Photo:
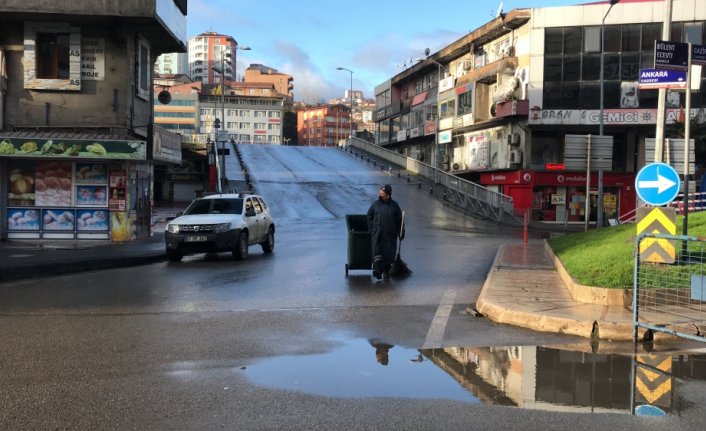
<svg viewBox="0 0 706 431">
<path fill-rule="evenodd" d="M 0 3 L 0 237 L 150 235 L 153 167 L 181 161 L 153 123 L 153 59 L 186 51 L 186 10 Z"/>
</svg>

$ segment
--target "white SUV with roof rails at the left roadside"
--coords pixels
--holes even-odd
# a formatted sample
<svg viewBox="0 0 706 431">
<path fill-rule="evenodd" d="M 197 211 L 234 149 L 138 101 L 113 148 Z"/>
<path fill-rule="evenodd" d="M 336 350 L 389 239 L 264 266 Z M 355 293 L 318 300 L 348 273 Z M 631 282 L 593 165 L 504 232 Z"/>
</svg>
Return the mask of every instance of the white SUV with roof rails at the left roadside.
<svg viewBox="0 0 706 431">
<path fill-rule="evenodd" d="M 261 196 L 214 194 L 197 198 L 164 232 L 167 258 L 179 262 L 184 254 L 230 251 L 237 260 L 248 247 L 275 248 L 275 224 Z"/>
</svg>

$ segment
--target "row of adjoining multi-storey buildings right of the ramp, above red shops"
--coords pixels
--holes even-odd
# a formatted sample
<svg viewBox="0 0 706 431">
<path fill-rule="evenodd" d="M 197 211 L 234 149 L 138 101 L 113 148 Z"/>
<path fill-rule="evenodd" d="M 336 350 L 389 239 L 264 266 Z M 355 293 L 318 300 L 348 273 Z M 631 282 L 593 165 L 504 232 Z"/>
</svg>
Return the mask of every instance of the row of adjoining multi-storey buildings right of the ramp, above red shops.
<svg viewBox="0 0 706 431">
<path fill-rule="evenodd" d="M 376 87 L 377 143 L 510 195 L 535 219 L 595 219 L 599 176 L 604 217 L 629 213 L 657 118 L 657 90 L 638 90 L 638 72 L 654 66 L 663 3 L 624 0 L 609 14 L 608 2 L 500 13 Z M 698 5 L 674 0 L 672 40 L 704 43 Z M 691 117 L 703 122 L 701 88 Z M 668 123 L 680 98 L 683 106 L 683 94 L 671 98 Z M 612 160 L 587 175 L 567 148 L 576 147 L 572 135 L 599 133 L 601 113 Z"/>
</svg>

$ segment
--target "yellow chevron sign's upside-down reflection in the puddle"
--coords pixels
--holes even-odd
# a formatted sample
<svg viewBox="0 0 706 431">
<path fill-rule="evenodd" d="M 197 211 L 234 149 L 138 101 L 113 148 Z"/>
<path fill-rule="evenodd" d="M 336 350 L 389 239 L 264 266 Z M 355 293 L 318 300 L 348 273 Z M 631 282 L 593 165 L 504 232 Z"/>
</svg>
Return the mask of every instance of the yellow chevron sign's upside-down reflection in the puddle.
<svg viewBox="0 0 706 431">
<path fill-rule="evenodd" d="M 671 355 L 645 354 L 635 358 L 636 401 L 653 406 L 671 408 L 672 357 Z"/>
</svg>

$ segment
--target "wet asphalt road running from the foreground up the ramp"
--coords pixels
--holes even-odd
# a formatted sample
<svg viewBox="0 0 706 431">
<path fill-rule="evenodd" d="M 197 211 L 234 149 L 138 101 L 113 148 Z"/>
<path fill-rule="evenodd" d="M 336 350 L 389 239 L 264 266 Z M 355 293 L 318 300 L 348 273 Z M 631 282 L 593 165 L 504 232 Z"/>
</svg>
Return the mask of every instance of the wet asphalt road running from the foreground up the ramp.
<svg viewBox="0 0 706 431">
<path fill-rule="evenodd" d="M 253 247 L 244 262 L 195 255 L 0 285 L 0 429 L 700 429 L 698 382 L 680 393 L 692 407 L 659 420 L 454 395 L 464 382 L 417 363 L 419 349 L 586 343 L 465 312 L 498 245 L 521 232 L 340 150 L 243 152 L 278 224 L 272 255 Z M 346 277 L 345 215 L 365 213 L 388 182 L 414 273 Z M 394 346 L 388 365 L 370 339 Z"/>
</svg>

